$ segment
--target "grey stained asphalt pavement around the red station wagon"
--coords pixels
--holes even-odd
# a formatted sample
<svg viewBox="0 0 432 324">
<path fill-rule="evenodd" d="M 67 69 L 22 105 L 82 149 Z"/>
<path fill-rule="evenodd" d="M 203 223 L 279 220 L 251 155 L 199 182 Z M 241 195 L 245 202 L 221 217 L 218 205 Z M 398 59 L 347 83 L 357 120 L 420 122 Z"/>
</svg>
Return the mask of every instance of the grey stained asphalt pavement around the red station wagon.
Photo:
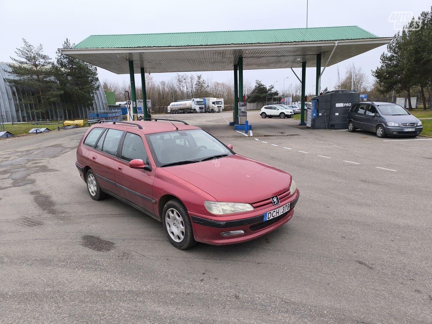
<svg viewBox="0 0 432 324">
<path fill-rule="evenodd" d="M 86 128 L 0 140 L 1 323 L 432 323 L 432 139 L 257 111 L 248 134 L 232 112 L 175 119 L 292 174 L 293 218 L 181 251 L 155 219 L 89 197 L 74 165 Z"/>
</svg>

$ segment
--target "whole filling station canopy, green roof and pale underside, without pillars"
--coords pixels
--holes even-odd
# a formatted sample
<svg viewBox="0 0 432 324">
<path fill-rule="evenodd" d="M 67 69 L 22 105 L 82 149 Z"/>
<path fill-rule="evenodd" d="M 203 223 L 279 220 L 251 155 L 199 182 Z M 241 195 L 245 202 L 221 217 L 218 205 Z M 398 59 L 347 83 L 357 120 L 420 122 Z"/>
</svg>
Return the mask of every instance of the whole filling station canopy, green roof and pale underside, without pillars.
<svg viewBox="0 0 432 324">
<path fill-rule="evenodd" d="M 63 54 L 102 69 L 130 73 L 129 61 L 146 73 L 232 70 L 243 57 L 243 70 L 316 67 L 321 53 L 326 66 L 387 44 L 358 26 L 91 35 Z M 333 54 L 332 54 L 333 53 Z"/>
</svg>

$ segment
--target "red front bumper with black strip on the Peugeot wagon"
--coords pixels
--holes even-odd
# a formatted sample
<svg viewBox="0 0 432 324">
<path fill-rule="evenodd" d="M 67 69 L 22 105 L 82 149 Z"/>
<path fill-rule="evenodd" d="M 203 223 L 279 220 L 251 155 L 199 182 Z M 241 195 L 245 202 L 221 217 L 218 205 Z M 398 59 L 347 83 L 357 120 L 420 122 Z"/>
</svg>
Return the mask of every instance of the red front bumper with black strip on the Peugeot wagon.
<svg viewBox="0 0 432 324">
<path fill-rule="evenodd" d="M 291 200 L 291 201 L 290 201 Z M 252 216 L 242 219 L 233 220 L 214 220 L 206 219 L 191 213 L 192 228 L 194 230 L 194 238 L 196 241 L 203 242 L 211 245 L 228 245 L 250 241 L 254 238 L 265 235 L 278 227 L 288 222 L 294 214 L 294 206 L 299 200 L 299 191 L 296 191 L 292 199 L 285 201 L 290 202 L 290 209 L 287 213 L 281 216 L 264 222 L 264 212 L 262 211 L 257 216 Z M 281 204 L 282 205 L 282 204 Z M 273 208 L 274 209 L 274 208 Z M 270 209 L 271 210 L 271 209 Z M 233 236 L 222 236 L 221 232 L 229 231 L 244 231 L 244 234 Z"/>
</svg>

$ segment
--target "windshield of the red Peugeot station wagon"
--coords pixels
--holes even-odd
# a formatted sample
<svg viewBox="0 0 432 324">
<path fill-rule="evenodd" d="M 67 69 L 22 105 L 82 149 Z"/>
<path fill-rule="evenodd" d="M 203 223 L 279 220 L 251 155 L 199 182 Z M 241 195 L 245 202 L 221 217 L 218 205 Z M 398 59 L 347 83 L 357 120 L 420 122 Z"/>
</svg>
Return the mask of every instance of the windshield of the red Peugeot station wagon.
<svg viewBox="0 0 432 324">
<path fill-rule="evenodd" d="M 229 148 L 201 129 L 156 133 L 146 137 L 152 156 L 159 167 L 233 155 Z"/>
</svg>

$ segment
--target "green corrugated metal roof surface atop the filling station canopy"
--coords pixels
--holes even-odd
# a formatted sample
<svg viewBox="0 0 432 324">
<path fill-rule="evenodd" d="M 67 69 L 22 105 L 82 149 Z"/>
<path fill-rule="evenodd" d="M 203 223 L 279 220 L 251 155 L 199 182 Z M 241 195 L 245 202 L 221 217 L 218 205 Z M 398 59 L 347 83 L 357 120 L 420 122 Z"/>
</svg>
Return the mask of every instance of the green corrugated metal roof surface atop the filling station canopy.
<svg viewBox="0 0 432 324">
<path fill-rule="evenodd" d="M 292 43 L 378 38 L 359 26 L 243 30 L 227 32 L 180 32 L 133 35 L 91 35 L 73 48 L 140 48 L 229 44 Z"/>
</svg>

